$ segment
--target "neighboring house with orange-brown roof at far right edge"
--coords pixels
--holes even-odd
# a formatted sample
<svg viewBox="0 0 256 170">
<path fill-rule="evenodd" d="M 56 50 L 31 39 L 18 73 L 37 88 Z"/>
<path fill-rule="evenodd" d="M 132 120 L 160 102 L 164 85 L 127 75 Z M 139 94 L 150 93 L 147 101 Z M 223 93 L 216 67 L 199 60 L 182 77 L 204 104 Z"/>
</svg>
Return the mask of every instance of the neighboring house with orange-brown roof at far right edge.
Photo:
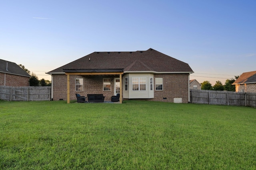
<svg viewBox="0 0 256 170">
<path fill-rule="evenodd" d="M 256 71 L 244 72 L 232 85 L 236 92 L 256 92 Z"/>
</svg>

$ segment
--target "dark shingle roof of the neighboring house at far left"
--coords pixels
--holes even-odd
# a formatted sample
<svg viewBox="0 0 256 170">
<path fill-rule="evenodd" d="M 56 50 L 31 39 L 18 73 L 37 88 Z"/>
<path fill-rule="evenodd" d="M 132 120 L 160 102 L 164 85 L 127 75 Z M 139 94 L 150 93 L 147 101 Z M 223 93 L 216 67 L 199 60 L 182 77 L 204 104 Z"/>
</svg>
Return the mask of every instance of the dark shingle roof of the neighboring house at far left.
<svg viewBox="0 0 256 170">
<path fill-rule="evenodd" d="M 25 70 L 16 63 L 0 59 L 0 72 L 18 76 L 31 77 Z"/>
</svg>

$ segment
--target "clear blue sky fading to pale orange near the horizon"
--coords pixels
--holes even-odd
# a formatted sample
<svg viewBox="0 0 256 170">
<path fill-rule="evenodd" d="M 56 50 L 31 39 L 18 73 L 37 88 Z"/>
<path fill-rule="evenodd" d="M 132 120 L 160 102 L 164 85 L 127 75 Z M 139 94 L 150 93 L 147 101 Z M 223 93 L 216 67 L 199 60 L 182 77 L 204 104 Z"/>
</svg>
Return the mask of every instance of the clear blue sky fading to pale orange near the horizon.
<svg viewBox="0 0 256 170">
<path fill-rule="evenodd" d="M 256 0 L 5 0 L 0 59 L 39 80 L 94 51 L 152 48 L 223 84 L 256 70 Z"/>
</svg>

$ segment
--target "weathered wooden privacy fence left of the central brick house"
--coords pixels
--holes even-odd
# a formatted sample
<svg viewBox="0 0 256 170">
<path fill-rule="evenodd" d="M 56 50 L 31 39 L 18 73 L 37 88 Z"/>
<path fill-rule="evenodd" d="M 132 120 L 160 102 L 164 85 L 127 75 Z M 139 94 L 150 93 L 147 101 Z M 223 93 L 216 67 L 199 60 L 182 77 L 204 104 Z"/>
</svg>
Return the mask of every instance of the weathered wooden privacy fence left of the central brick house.
<svg viewBox="0 0 256 170">
<path fill-rule="evenodd" d="M 51 86 L 0 86 L 0 100 L 42 101 L 50 98 Z"/>
</svg>

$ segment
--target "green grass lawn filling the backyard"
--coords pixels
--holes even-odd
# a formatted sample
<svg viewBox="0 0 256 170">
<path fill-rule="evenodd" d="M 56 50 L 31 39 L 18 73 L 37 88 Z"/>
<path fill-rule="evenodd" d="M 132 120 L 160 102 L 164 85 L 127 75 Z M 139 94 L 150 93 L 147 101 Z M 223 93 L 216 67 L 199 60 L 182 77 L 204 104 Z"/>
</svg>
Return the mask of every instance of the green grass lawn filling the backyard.
<svg viewBox="0 0 256 170">
<path fill-rule="evenodd" d="M 256 169 L 256 109 L 0 101 L 0 169 Z"/>
</svg>

